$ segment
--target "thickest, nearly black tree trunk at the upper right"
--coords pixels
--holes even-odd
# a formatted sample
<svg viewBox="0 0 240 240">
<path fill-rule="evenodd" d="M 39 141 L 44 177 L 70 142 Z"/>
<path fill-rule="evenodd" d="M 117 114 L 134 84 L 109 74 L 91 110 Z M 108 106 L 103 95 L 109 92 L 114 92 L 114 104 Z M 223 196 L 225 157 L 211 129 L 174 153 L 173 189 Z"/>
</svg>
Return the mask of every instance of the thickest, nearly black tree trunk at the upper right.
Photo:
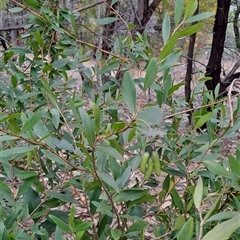
<svg viewBox="0 0 240 240">
<path fill-rule="evenodd" d="M 230 3 L 231 0 L 218 0 L 217 2 L 212 49 L 206 69 L 206 76 L 212 78 L 211 80 L 205 82 L 208 90 L 214 90 L 218 84 L 221 84 L 221 61 L 224 50 Z M 219 93 L 221 94 L 225 90 L 226 88 L 220 85 Z"/>
</svg>

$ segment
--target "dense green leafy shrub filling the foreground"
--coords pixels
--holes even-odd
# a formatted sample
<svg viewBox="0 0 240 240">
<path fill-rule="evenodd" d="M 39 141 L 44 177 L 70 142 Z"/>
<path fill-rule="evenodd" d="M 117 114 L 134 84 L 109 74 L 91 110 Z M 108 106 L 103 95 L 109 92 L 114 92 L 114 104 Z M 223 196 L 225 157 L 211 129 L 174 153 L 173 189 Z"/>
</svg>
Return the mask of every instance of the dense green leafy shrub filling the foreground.
<svg viewBox="0 0 240 240">
<path fill-rule="evenodd" d="M 116 39 L 105 64 L 92 68 L 68 9 L 25 2 L 33 9 L 25 46 L 0 59 L 0 238 L 238 239 L 240 148 L 227 158 L 219 151 L 239 129 L 240 101 L 231 128 L 201 79 L 192 98 L 210 100 L 212 112 L 194 112 L 195 129 L 208 130 L 197 135 L 185 126 L 186 103 L 174 97 L 182 85 L 171 76 L 181 55 L 175 45 L 202 27 L 184 28 L 195 1 L 176 5 L 174 19 L 166 13 L 157 59 L 137 34 L 136 42 Z M 146 75 L 134 78 L 142 60 Z M 73 73 L 82 76 L 80 90 Z"/>
</svg>

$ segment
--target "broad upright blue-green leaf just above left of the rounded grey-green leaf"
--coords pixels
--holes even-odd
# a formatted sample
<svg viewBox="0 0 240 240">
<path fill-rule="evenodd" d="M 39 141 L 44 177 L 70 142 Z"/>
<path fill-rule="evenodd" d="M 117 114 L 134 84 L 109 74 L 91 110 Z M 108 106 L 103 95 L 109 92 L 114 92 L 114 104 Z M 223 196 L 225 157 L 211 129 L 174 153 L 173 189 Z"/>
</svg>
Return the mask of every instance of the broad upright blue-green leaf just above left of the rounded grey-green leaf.
<svg viewBox="0 0 240 240">
<path fill-rule="evenodd" d="M 124 101 L 126 102 L 130 112 L 134 114 L 136 112 L 137 94 L 135 84 L 129 72 L 124 73 L 122 91 Z"/>
</svg>

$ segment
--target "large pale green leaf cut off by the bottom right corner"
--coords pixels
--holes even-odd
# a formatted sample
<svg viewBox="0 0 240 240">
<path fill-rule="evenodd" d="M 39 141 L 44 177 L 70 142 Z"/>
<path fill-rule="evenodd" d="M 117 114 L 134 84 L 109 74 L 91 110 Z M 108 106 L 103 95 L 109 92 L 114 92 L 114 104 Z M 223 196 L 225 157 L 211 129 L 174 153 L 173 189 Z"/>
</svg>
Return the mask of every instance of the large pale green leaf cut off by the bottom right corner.
<svg viewBox="0 0 240 240">
<path fill-rule="evenodd" d="M 240 214 L 238 216 L 218 224 L 210 232 L 208 232 L 202 240 L 227 240 L 231 235 L 240 228 Z"/>
</svg>

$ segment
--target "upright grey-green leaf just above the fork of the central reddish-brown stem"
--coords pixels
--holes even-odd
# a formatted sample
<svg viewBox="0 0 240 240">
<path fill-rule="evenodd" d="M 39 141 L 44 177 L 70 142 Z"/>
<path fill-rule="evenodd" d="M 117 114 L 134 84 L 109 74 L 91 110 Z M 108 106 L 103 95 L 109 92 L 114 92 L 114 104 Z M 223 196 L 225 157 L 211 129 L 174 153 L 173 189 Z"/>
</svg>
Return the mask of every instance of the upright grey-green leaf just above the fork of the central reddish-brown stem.
<svg viewBox="0 0 240 240">
<path fill-rule="evenodd" d="M 95 126 L 92 119 L 88 116 L 87 112 L 81 107 L 79 113 L 83 122 L 83 130 L 88 140 L 89 145 L 92 147 L 95 141 Z"/>
</svg>

